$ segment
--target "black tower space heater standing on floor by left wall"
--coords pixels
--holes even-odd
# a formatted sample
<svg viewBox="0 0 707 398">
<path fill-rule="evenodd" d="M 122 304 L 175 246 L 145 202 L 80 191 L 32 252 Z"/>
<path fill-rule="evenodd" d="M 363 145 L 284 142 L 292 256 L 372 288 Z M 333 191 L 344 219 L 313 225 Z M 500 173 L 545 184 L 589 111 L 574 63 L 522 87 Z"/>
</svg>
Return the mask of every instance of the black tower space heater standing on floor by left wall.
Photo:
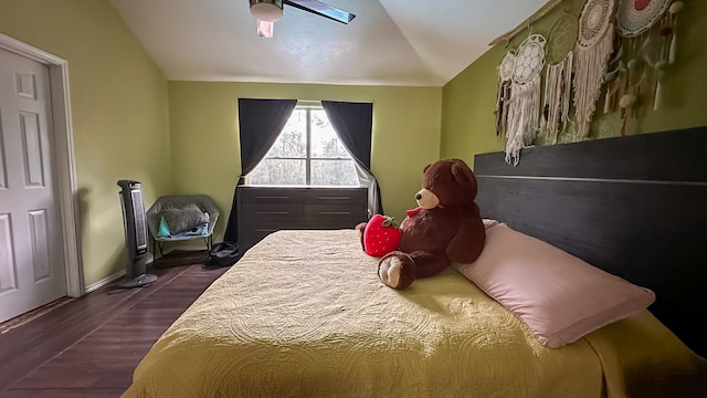
<svg viewBox="0 0 707 398">
<path fill-rule="evenodd" d="M 143 188 L 134 180 L 118 180 L 125 243 L 128 248 L 126 275 L 120 287 L 143 287 L 157 281 L 157 275 L 147 274 L 147 216 L 143 205 Z"/>
</svg>

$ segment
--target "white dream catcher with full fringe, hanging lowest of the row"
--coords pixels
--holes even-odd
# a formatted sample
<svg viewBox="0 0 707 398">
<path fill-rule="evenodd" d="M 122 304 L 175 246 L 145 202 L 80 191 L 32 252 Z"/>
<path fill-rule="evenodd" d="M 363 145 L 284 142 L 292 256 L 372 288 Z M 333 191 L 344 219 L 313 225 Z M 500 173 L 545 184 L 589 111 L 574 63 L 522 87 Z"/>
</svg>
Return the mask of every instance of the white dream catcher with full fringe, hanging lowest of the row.
<svg viewBox="0 0 707 398">
<path fill-rule="evenodd" d="M 542 35 L 531 34 L 520 43 L 515 56 L 506 132 L 506 163 L 514 166 L 518 165 L 520 149 L 532 143 L 540 127 L 540 72 L 545 67 L 545 44 Z"/>
</svg>

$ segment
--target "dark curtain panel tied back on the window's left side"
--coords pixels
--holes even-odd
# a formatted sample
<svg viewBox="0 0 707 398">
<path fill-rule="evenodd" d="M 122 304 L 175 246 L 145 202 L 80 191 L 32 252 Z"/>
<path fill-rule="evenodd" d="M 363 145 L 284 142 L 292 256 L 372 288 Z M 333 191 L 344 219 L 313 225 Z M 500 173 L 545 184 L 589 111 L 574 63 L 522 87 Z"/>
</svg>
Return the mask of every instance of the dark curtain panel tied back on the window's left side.
<svg viewBox="0 0 707 398">
<path fill-rule="evenodd" d="M 233 191 L 233 202 L 223 240 L 238 242 L 236 192 L 244 176 L 253 171 L 277 139 L 297 100 L 239 98 L 239 134 L 241 142 L 241 176 Z"/>
</svg>

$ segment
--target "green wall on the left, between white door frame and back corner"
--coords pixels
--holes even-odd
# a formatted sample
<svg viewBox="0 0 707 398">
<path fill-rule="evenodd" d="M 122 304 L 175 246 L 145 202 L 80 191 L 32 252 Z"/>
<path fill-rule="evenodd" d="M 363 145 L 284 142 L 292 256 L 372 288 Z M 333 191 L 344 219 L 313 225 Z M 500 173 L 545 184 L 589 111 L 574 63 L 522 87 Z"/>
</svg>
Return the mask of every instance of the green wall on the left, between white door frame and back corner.
<svg viewBox="0 0 707 398">
<path fill-rule="evenodd" d="M 125 270 L 118 179 L 171 189 L 167 81 L 107 1 L 0 0 L 0 33 L 68 62 L 86 285 Z"/>
</svg>

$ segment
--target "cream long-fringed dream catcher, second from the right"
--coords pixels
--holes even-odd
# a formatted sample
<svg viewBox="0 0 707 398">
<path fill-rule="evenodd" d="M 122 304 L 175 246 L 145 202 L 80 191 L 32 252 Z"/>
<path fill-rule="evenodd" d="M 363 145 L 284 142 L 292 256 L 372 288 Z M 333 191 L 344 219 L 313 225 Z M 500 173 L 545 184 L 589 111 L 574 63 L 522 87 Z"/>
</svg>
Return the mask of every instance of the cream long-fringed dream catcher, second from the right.
<svg viewBox="0 0 707 398">
<path fill-rule="evenodd" d="M 585 139 L 608 61 L 613 52 L 615 0 L 588 0 L 579 19 L 574 62 L 577 136 Z"/>
</svg>

